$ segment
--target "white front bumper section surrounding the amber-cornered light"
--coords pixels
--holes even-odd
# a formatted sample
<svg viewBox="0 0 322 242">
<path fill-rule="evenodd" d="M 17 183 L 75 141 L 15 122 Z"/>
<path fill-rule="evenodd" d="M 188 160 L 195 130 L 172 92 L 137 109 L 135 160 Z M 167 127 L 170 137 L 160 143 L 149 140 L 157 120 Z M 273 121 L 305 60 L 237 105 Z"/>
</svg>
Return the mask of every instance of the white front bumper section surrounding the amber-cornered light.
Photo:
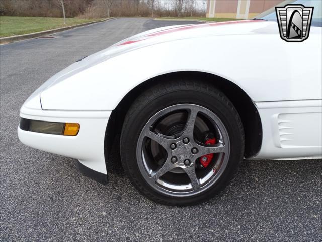
<svg viewBox="0 0 322 242">
<path fill-rule="evenodd" d="M 95 172 L 107 176 L 104 139 L 111 111 L 57 111 L 23 106 L 20 117 L 47 122 L 78 123 L 76 136 L 36 133 L 18 127 L 18 137 L 27 146 L 78 159 L 83 173 L 96 179 Z M 91 169 L 86 170 L 86 168 Z M 97 174 L 100 176 L 100 174 Z M 97 177 L 96 180 L 102 180 Z M 101 182 L 101 181 L 100 181 Z"/>
</svg>

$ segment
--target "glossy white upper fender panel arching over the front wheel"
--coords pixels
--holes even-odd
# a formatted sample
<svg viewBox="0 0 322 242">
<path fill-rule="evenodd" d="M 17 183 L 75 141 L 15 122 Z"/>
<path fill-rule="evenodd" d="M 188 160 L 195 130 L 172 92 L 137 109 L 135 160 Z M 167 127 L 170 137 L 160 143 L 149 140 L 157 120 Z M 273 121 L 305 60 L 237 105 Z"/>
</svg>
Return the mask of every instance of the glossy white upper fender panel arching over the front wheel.
<svg viewBox="0 0 322 242">
<path fill-rule="evenodd" d="M 140 83 L 178 71 L 226 78 L 255 102 L 322 98 L 321 28 L 312 27 L 304 42 L 287 43 L 279 38 L 275 22 L 240 22 L 168 33 L 84 58 L 48 80 L 41 93 L 42 107 L 113 110 Z M 216 31 L 202 36 L 208 28 Z M 193 37 L 187 38 L 189 34 Z M 165 41 L 168 35 L 171 40 Z M 117 54 L 111 57 L 113 53 Z"/>
</svg>

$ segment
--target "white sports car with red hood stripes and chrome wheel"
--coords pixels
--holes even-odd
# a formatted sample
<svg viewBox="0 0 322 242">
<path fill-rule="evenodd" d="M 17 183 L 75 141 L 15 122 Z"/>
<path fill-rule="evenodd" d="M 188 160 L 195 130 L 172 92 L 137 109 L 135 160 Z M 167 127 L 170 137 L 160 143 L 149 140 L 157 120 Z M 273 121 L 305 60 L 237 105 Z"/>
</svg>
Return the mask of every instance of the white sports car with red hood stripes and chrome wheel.
<svg viewBox="0 0 322 242">
<path fill-rule="evenodd" d="M 243 158 L 321 156 L 322 4 L 295 3 L 314 7 L 303 42 L 280 37 L 272 9 L 261 20 L 146 31 L 85 57 L 26 100 L 19 139 L 107 183 L 120 134 L 114 160 L 168 205 L 214 196 Z"/>
</svg>

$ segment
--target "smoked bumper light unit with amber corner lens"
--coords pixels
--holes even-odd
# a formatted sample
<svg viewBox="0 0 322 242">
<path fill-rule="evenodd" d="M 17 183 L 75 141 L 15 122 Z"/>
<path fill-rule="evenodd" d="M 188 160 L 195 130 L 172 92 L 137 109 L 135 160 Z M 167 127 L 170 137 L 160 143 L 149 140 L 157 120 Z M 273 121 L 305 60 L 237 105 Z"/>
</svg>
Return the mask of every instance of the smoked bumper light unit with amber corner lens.
<svg viewBox="0 0 322 242">
<path fill-rule="evenodd" d="M 25 131 L 68 136 L 76 136 L 80 128 L 79 124 L 76 123 L 47 122 L 26 118 L 20 119 L 19 127 Z"/>
</svg>

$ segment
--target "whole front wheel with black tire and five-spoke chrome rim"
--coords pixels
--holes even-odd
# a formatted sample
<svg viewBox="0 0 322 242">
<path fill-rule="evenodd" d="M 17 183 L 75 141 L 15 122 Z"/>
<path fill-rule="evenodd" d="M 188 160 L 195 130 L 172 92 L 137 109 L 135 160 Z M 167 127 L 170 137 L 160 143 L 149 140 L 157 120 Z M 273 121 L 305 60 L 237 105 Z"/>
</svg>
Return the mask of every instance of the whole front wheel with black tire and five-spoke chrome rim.
<svg viewBox="0 0 322 242">
<path fill-rule="evenodd" d="M 138 97 L 121 134 L 122 164 L 146 197 L 192 205 L 221 191 L 244 152 L 240 117 L 227 97 L 200 82 L 159 84 Z"/>
</svg>

